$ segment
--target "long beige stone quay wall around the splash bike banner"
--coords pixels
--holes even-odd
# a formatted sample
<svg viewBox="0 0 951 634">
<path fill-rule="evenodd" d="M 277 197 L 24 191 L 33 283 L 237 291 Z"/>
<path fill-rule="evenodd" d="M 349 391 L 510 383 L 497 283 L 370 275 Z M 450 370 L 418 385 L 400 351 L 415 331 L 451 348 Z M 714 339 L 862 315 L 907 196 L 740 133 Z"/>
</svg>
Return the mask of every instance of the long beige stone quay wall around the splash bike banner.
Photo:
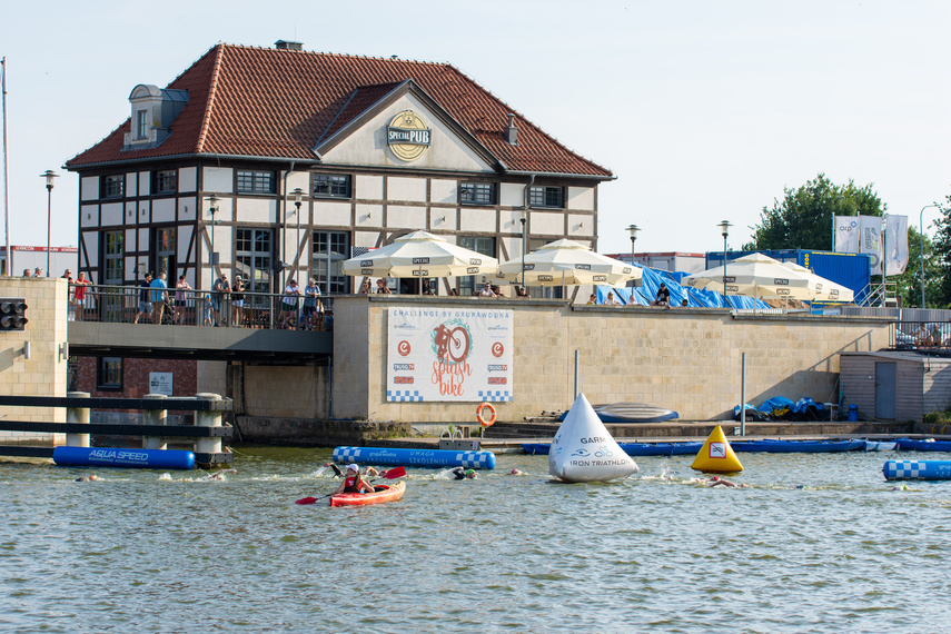
<svg viewBox="0 0 951 634">
<path fill-rule="evenodd" d="M 384 358 L 388 307 L 473 306 L 473 301 L 479 299 L 336 298 L 334 416 L 473 422 L 474 403 L 387 403 Z M 648 403 L 674 409 L 684 420 L 711 420 L 732 414 L 740 403 L 744 351 L 747 403 L 772 396 L 828 402 L 838 395 L 840 353 L 878 350 L 889 343 L 884 318 L 493 301 L 515 310 L 515 400 L 496 404 L 502 420 L 571 406 L 575 350 L 579 388 L 592 403 Z"/>
</svg>

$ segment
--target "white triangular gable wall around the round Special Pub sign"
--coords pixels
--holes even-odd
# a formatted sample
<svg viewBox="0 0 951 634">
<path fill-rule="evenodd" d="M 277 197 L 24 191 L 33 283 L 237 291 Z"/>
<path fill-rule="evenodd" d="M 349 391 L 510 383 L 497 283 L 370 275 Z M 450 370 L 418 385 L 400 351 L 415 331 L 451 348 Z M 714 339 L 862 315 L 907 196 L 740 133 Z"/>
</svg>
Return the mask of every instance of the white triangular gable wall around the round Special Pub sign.
<svg viewBox="0 0 951 634">
<path fill-rule="evenodd" d="M 386 127 L 404 110 L 413 110 L 433 130 L 430 146 L 412 162 L 396 158 L 386 145 Z M 406 95 L 389 108 L 353 131 L 348 138 L 324 155 L 324 162 L 335 165 L 370 165 L 406 167 L 410 169 L 445 169 L 473 172 L 493 172 L 478 155 L 463 143 L 414 97 Z M 390 192 L 390 198 L 392 198 Z"/>
</svg>

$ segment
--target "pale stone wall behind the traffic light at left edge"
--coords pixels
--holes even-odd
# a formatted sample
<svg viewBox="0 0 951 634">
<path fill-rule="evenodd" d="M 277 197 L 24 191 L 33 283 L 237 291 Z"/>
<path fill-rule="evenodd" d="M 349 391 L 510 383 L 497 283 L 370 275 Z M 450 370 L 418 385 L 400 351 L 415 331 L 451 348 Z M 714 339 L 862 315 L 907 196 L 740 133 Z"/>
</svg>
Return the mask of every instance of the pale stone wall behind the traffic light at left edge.
<svg viewBox="0 0 951 634">
<path fill-rule="evenodd" d="M 26 330 L 0 331 L 0 394 L 66 396 L 67 280 L 57 277 L 0 277 L 0 297 L 27 303 Z M 30 343 L 30 358 L 23 354 Z M 0 407 L 11 420 L 66 422 L 65 408 Z M 52 434 L 0 432 L 0 439 L 52 438 Z"/>
</svg>

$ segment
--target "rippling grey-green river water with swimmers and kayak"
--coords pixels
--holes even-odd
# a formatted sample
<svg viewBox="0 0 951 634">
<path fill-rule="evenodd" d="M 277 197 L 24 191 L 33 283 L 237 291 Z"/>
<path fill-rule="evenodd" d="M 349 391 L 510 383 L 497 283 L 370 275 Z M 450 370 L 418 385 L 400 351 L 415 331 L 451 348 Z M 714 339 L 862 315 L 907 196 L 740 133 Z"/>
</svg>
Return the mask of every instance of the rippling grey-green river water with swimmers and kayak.
<svg viewBox="0 0 951 634">
<path fill-rule="evenodd" d="M 740 457 L 749 488 L 693 482 L 692 456 L 565 485 L 546 456 L 501 455 L 475 481 L 408 469 L 403 501 L 363 508 L 294 504 L 336 486 L 323 449 L 242 448 L 224 481 L 2 462 L 0 630 L 951 626 L 951 482 L 893 491 L 881 474 L 951 455 Z"/>
</svg>

